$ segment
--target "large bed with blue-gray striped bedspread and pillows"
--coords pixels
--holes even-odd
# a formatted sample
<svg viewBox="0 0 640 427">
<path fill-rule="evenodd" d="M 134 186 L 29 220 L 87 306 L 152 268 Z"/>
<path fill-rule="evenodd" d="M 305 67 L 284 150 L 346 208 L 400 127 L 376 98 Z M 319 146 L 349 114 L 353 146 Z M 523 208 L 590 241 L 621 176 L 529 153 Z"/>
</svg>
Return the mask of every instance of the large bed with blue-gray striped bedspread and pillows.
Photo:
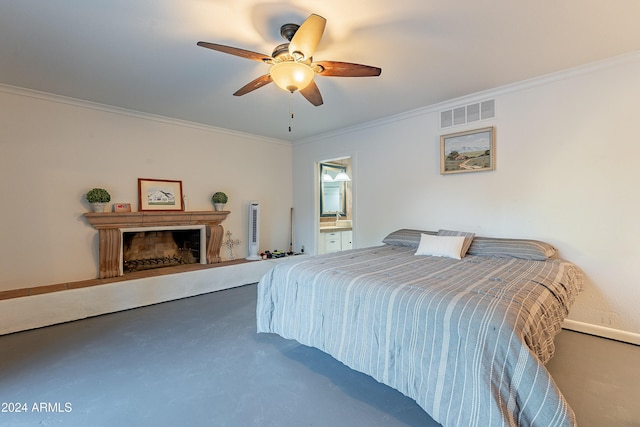
<svg viewBox="0 0 640 427">
<path fill-rule="evenodd" d="M 425 254 L 427 237 L 446 236 L 463 237 L 460 259 Z M 330 354 L 443 426 L 574 426 L 544 365 L 581 287 L 544 242 L 402 229 L 275 266 L 258 284 L 257 330 Z"/>
</svg>

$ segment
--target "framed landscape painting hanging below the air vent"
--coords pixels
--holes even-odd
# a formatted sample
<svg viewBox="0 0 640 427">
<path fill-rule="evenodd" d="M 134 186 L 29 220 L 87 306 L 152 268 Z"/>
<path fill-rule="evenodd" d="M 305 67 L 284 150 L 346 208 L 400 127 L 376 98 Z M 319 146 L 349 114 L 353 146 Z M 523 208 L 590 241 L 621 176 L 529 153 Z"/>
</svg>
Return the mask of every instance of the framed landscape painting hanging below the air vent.
<svg viewBox="0 0 640 427">
<path fill-rule="evenodd" d="M 495 126 L 440 136 L 440 174 L 496 168 Z"/>
</svg>

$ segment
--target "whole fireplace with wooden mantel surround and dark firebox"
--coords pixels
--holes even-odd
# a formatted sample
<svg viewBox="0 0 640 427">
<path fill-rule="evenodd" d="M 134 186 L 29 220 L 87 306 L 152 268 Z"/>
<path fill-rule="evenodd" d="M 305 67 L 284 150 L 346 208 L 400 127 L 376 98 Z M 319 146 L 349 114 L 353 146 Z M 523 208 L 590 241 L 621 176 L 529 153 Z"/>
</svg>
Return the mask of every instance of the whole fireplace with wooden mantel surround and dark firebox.
<svg viewBox="0 0 640 427">
<path fill-rule="evenodd" d="M 151 240 L 155 239 L 160 242 L 160 246 L 164 247 L 164 249 L 175 253 L 164 253 L 162 250 L 147 248 L 148 253 L 143 255 L 142 258 L 153 258 L 153 260 L 149 261 L 149 264 L 164 263 L 166 261 L 167 265 L 170 265 L 171 262 L 175 263 L 173 265 L 178 265 L 185 259 L 190 259 L 187 252 L 196 259 L 195 262 L 200 262 L 201 264 L 219 263 L 221 261 L 220 246 L 222 245 L 224 234 L 221 223 L 228 214 L 229 211 L 90 212 L 85 213 L 84 216 L 89 224 L 99 232 L 99 277 L 104 279 L 124 274 L 125 245 L 129 248 L 129 252 L 132 252 L 131 243 L 133 239 L 127 233 L 135 235 L 136 233 L 171 232 L 170 238 L 163 235 L 165 233 L 160 233 L 160 235 L 150 234 L 152 236 Z M 187 230 L 191 230 L 191 232 L 184 235 L 174 235 L 176 232 Z M 198 237 L 194 237 L 193 230 L 195 230 Z M 191 234 L 190 237 L 185 237 L 189 234 Z M 193 247 L 196 245 L 195 242 L 185 243 L 185 239 L 197 240 L 197 250 Z M 144 246 L 145 244 L 139 245 L 138 252 L 140 247 Z M 133 252 L 135 251 L 136 249 L 133 250 Z M 162 255 L 158 255 L 160 253 Z M 128 255 L 136 256 L 131 253 Z M 127 263 L 127 268 L 129 264 Z M 131 264 L 133 265 L 134 263 Z M 144 262 L 141 264 L 144 264 Z M 146 267 L 141 268 L 147 269 Z"/>
</svg>

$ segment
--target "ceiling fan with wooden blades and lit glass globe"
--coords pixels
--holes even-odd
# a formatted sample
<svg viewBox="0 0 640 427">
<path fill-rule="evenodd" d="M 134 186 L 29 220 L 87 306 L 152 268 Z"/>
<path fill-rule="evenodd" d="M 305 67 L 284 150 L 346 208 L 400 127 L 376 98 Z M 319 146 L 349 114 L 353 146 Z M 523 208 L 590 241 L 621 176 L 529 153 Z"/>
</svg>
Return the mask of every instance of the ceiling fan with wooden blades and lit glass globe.
<svg viewBox="0 0 640 427">
<path fill-rule="evenodd" d="M 316 74 L 332 77 L 374 77 L 382 69 L 369 65 L 338 61 L 313 61 L 313 53 L 320 43 L 327 20 L 312 14 L 301 25 L 284 24 L 280 35 L 288 40 L 276 46 L 271 56 L 237 47 L 198 42 L 198 46 L 228 53 L 241 58 L 271 64 L 269 73 L 258 77 L 238 89 L 234 95 L 242 96 L 271 82 L 291 93 L 299 91 L 315 106 L 322 105 L 322 95 L 314 82 Z"/>
</svg>

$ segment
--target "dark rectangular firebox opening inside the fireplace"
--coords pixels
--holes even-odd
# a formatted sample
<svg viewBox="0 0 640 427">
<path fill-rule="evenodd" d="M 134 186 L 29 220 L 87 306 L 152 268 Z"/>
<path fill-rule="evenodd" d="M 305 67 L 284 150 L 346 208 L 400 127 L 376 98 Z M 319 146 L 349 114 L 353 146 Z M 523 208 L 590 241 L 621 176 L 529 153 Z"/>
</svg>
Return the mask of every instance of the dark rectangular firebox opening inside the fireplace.
<svg viewBox="0 0 640 427">
<path fill-rule="evenodd" d="M 204 227 L 124 229 L 122 273 L 198 262 L 204 264 L 204 232 Z"/>
</svg>

